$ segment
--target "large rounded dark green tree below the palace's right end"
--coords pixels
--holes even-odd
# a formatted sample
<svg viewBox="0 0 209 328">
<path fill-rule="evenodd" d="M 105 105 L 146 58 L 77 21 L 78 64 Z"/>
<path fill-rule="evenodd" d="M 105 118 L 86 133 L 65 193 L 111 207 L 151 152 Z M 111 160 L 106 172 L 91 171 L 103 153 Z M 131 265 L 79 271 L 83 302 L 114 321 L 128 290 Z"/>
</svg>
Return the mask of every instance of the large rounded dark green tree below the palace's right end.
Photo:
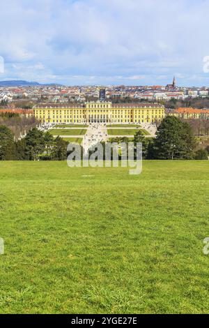
<svg viewBox="0 0 209 328">
<path fill-rule="evenodd" d="M 155 159 L 191 159 L 195 145 L 189 124 L 177 117 L 167 116 L 157 128 L 153 156 Z"/>
</svg>

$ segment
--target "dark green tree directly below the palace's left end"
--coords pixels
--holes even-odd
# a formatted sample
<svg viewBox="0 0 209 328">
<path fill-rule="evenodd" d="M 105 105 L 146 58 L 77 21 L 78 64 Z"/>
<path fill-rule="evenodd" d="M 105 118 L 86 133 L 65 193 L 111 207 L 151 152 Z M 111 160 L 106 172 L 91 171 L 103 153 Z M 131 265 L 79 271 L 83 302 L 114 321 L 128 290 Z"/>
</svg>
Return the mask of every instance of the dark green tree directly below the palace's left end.
<svg viewBox="0 0 209 328">
<path fill-rule="evenodd" d="M 26 151 L 30 161 L 37 161 L 38 156 L 45 150 L 45 137 L 42 131 L 32 128 L 25 137 Z"/>
</svg>

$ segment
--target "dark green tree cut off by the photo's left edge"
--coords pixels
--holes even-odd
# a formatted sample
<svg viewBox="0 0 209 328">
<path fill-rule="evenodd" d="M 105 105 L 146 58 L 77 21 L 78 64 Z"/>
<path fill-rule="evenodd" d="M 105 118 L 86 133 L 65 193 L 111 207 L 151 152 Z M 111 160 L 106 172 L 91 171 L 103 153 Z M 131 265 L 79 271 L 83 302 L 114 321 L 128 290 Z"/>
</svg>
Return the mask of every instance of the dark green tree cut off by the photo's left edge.
<svg viewBox="0 0 209 328">
<path fill-rule="evenodd" d="M 0 126 L 0 161 L 12 161 L 14 158 L 15 141 L 12 131 Z"/>
</svg>

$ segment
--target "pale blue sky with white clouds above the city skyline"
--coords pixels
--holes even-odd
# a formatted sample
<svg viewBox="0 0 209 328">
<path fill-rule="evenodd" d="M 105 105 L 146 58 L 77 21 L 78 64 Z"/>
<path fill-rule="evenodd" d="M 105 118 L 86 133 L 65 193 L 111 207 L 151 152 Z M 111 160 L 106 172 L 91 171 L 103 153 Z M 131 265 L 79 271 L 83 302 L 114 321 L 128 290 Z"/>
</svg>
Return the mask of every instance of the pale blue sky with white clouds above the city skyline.
<svg viewBox="0 0 209 328">
<path fill-rule="evenodd" d="M 0 80 L 209 87 L 209 0 L 7 0 Z M 1 69 L 2 59 L 4 71 Z"/>
</svg>

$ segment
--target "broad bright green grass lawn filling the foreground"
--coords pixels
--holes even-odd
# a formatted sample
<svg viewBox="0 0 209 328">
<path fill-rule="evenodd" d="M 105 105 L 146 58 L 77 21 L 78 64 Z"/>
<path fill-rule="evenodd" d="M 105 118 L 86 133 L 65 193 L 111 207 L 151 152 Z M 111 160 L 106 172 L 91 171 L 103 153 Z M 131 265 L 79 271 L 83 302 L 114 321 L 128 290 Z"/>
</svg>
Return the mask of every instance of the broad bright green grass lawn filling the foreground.
<svg viewBox="0 0 209 328">
<path fill-rule="evenodd" d="M 208 161 L 0 162 L 0 313 L 208 313 Z"/>
</svg>

